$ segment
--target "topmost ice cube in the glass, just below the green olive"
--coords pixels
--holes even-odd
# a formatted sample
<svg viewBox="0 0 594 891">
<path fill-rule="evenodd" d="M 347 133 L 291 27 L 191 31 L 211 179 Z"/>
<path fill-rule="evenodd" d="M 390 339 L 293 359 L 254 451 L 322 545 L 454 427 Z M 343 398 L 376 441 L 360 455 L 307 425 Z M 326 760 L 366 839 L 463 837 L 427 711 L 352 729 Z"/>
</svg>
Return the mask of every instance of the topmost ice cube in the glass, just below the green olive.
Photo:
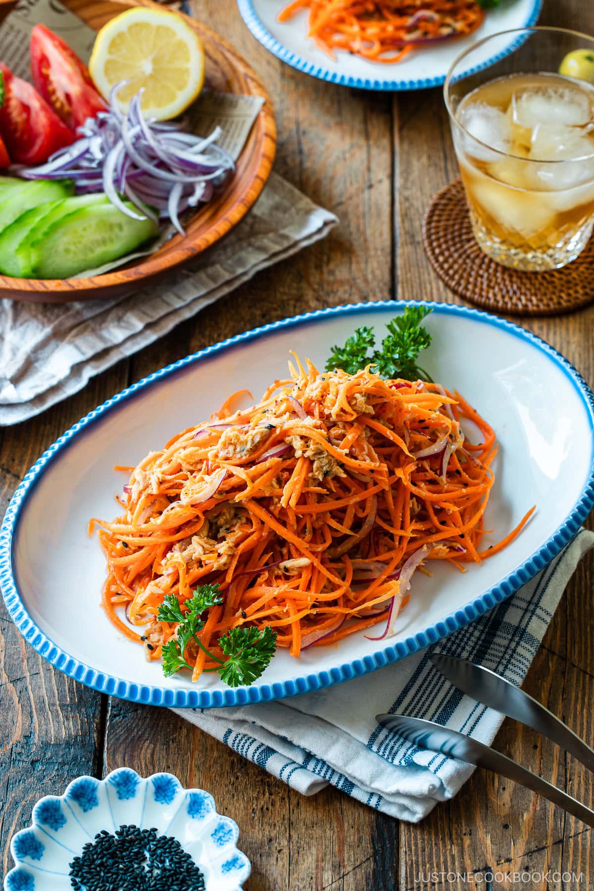
<svg viewBox="0 0 594 891">
<path fill-rule="evenodd" d="M 533 130 L 539 124 L 583 127 L 591 119 L 590 99 L 571 86 L 528 87 L 511 98 L 512 120 Z"/>
</svg>

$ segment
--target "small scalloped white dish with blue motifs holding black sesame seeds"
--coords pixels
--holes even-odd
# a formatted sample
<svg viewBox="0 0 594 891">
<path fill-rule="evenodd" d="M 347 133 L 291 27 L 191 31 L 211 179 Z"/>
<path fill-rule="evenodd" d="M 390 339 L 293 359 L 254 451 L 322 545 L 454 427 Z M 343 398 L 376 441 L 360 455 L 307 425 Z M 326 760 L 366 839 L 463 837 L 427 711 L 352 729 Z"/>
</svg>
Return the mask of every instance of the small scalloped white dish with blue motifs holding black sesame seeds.
<svg viewBox="0 0 594 891">
<path fill-rule="evenodd" d="M 132 853 L 116 835 L 123 827 L 124 843 L 126 836 L 136 842 Z M 143 779 L 122 767 L 104 780 L 78 777 L 63 795 L 38 801 L 31 826 L 12 838 L 16 865 L 4 879 L 4 891 L 71 891 L 73 879 L 91 878 L 98 869 L 104 879 L 112 864 L 128 879 L 143 878 L 154 866 L 161 880 L 167 872 L 175 887 L 192 891 L 201 884 L 197 867 L 206 891 L 240 891 L 250 864 L 237 848 L 239 833 L 236 822 L 216 813 L 208 792 L 183 789 L 171 773 Z M 172 865 L 181 858 L 185 873 Z"/>
</svg>

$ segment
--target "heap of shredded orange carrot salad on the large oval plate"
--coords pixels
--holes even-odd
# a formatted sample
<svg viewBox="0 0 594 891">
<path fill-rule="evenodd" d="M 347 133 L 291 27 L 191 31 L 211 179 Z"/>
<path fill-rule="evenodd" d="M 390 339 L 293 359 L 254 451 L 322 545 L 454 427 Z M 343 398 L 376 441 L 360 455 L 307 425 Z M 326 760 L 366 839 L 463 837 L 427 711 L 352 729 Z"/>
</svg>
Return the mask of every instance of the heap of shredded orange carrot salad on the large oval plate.
<svg viewBox="0 0 594 891">
<path fill-rule="evenodd" d="M 245 624 L 271 625 L 296 657 L 379 623 L 370 636 L 381 640 L 424 561 L 463 571 L 509 544 L 532 514 L 481 549 L 497 445 L 459 393 L 383 380 L 370 367 L 320 373 L 296 361 L 257 405 L 232 413 L 234 394 L 210 421 L 120 468 L 132 470 L 122 516 L 91 521 L 108 564 L 103 607 L 147 658 L 175 636 L 157 618 L 164 597 L 183 604 L 206 583 L 223 597 L 199 635 L 215 656 L 219 636 Z M 195 644 L 188 650 L 196 679 L 212 664 Z"/>
</svg>

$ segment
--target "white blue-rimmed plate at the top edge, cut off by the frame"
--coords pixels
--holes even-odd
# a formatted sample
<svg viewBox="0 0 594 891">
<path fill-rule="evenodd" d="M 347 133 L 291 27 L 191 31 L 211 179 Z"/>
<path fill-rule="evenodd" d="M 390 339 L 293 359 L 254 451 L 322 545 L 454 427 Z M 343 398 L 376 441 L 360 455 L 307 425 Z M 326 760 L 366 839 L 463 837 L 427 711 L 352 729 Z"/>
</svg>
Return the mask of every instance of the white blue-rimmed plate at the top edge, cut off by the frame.
<svg viewBox="0 0 594 891">
<path fill-rule="evenodd" d="M 297 12 L 289 20 L 279 21 L 278 14 L 288 0 L 237 0 L 241 18 L 248 29 L 267 50 L 313 78 L 332 84 L 354 86 L 364 90 L 421 90 L 443 84 L 445 76 L 459 53 L 477 40 L 491 37 L 500 31 L 530 28 L 541 13 L 542 0 L 500 0 L 495 9 L 486 11 L 480 28 L 471 35 L 443 41 L 426 49 L 413 50 L 403 61 L 393 65 L 373 62 L 350 53 L 336 53 L 331 60 L 310 37 L 307 37 L 307 11 Z M 462 76 L 499 61 L 517 47 L 517 35 L 510 35 L 497 46 L 484 49 L 484 58 L 477 50 L 475 67 Z"/>
</svg>

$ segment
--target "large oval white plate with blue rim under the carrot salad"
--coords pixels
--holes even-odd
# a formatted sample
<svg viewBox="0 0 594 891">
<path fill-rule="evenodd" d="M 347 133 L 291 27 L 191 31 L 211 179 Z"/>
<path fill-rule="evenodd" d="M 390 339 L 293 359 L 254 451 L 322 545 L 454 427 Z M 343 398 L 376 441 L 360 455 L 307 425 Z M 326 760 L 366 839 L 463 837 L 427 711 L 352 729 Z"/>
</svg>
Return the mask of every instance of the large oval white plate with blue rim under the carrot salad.
<svg viewBox="0 0 594 891">
<path fill-rule="evenodd" d="M 385 301 L 323 309 L 248 331 L 155 372 L 78 421 L 20 484 L 0 530 L 0 584 L 7 609 L 37 652 L 77 681 L 122 699 L 175 707 L 234 706 L 320 690 L 373 671 L 468 625 L 515 592 L 561 551 L 594 503 L 593 396 L 579 373 L 530 331 L 468 307 L 428 303 L 433 336 L 422 364 L 456 388 L 492 423 L 500 443 L 485 514 L 498 541 L 536 505 L 503 551 L 460 574 L 438 566 L 414 579 L 394 636 L 359 632 L 334 646 L 274 656 L 252 686 L 231 689 L 219 675 L 192 684 L 164 678 L 157 661 L 118 634 L 102 612 L 105 577 L 91 517 L 118 514 L 134 466 L 169 437 L 210 416 L 232 391 L 256 398 L 287 369 L 289 350 L 322 367 L 330 347 L 360 325 L 378 340 L 406 304 Z"/>
</svg>

